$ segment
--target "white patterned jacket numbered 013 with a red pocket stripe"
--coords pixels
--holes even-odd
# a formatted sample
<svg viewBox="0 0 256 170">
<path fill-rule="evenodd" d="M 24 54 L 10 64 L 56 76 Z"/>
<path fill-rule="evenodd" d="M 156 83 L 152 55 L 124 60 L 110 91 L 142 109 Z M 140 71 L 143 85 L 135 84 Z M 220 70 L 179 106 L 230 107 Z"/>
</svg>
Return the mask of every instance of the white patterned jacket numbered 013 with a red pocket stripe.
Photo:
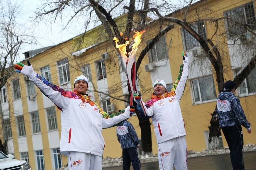
<svg viewBox="0 0 256 170">
<path fill-rule="evenodd" d="M 147 118 L 152 117 L 157 143 L 186 135 L 184 121 L 180 109 L 180 99 L 188 76 L 188 63 L 180 66 L 180 72 L 170 92 L 162 96 L 152 94 L 151 100 L 143 102 Z M 140 116 L 145 117 L 141 107 L 137 105 Z"/>
</svg>

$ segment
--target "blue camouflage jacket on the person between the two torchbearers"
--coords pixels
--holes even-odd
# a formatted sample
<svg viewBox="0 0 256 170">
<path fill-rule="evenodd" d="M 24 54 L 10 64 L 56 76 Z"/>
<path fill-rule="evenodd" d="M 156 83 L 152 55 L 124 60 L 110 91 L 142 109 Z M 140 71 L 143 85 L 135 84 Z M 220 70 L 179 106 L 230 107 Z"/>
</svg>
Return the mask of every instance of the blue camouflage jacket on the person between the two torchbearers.
<svg viewBox="0 0 256 170">
<path fill-rule="evenodd" d="M 140 144 L 137 133 L 130 122 L 122 122 L 116 127 L 116 132 L 117 139 L 121 143 L 122 149 L 136 147 Z"/>
</svg>

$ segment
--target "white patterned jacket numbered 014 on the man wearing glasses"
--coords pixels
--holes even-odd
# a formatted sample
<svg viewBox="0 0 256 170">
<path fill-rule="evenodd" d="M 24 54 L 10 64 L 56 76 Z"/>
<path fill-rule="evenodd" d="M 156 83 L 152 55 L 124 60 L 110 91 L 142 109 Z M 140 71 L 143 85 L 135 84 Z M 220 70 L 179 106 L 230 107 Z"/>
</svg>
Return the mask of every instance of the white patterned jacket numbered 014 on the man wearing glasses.
<svg viewBox="0 0 256 170">
<path fill-rule="evenodd" d="M 102 128 L 112 127 L 130 117 L 127 108 L 108 115 L 90 97 L 50 84 L 35 72 L 31 81 L 61 110 L 60 152 L 85 152 L 102 156 L 105 145 Z"/>
</svg>

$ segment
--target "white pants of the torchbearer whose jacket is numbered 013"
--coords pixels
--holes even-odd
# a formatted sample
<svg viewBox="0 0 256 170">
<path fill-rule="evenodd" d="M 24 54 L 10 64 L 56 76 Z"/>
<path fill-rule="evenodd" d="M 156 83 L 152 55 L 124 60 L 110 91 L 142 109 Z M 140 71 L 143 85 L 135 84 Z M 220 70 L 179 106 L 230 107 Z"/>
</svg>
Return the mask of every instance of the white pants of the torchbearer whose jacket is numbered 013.
<svg viewBox="0 0 256 170">
<path fill-rule="evenodd" d="M 187 143 L 185 136 L 176 137 L 158 144 L 160 170 L 187 170 Z"/>
</svg>

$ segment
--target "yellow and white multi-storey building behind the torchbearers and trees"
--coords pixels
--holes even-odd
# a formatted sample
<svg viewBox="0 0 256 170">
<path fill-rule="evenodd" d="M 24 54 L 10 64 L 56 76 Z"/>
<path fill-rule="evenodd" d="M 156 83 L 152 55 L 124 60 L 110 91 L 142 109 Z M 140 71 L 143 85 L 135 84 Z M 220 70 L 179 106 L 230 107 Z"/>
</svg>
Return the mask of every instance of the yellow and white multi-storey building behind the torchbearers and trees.
<svg viewBox="0 0 256 170">
<path fill-rule="evenodd" d="M 254 5 L 254 1 L 247 0 L 201 0 L 193 4 L 188 11 L 186 20 L 196 21 L 192 24 L 196 32 L 207 39 L 212 38 L 212 42 L 218 45 L 225 81 L 232 80 L 237 71 L 250 59 L 250 56 L 243 52 L 244 46 L 250 44 L 243 43 L 244 39 L 240 38 L 237 44 L 228 45 L 230 40 L 224 39 L 221 35 L 229 25 L 225 20 L 220 20 L 216 31 L 216 22 L 213 22 L 213 18 L 242 11 L 246 21 L 249 19 L 249 12 L 252 14 L 250 18 L 256 21 Z M 181 18 L 181 10 L 172 13 L 170 17 L 172 16 Z M 117 20 L 118 24 L 122 24 L 124 18 L 120 17 Z M 168 23 L 164 23 L 162 28 L 167 25 Z M 158 33 L 159 22 L 151 22 L 147 28 L 149 30 L 142 36 L 137 55 Z M 67 90 L 73 90 L 73 83 L 78 75 L 86 75 L 89 79 L 88 94 L 91 100 L 100 104 L 103 110 L 109 113 L 124 109 L 127 103 L 118 99 L 129 100 L 126 75 L 117 50 L 111 41 L 106 41 L 106 35 L 100 34 L 101 32 L 104 31 L 102 26 L 99 26 L 66 42 L 38 51 L 34 56 L 28 53 L 22 62 L 26 64 L 29 60 L 40 75 L 52 84 Z M 180 101 L 187 132 L 186 141 L 188 150 L 202 151 L 208 146 L 208 126 L 218 96 L 216 74 L 209 60 L 204 57 L 198 42 L 180 26 L 175 25 L 161 37 L 142 60 L 140 67 L 137 68 L 139 90 L 144 101 L 150 99 L 153 92 L 152 84 L 156 79 L 165 80 L 167 90 L 170 90 L 182 64 L 183 50 L 190 57 L 189 76 Z M 250 50 L 253 51 L 253 48 L 248 49 Z M 256 90 L 253 87 L 256 78 L 253 73 L 256 73 L 256 68 L 244 81 L 243 86 L 236 91 L 252 128 L 251 134 L 243 128 L 245 144 L 256 143 Z M 60 111 L 37 87 L 23 75 L 15 73 L 1 89 L 1 103 L 6 121 L 6 127 L 1 128 L 7 128 L 9 132 L 9 153 L 15 154 L 16 159 L 29 160 L 32 169 L 37 170 L 55 169 L 67 163 L 67 158 L 59 154 Z M 129 121 L 141 138 L 137 116 L 131 117 Z M 153 125 L 151 133 L 153 154 L 157 154 Z M 117 141 L 116 128 L 103 129 L 103 137 L 106 142 L 103 157 L 120 157 L 122 149 Z M 220 147 L 227 146 L 224 137 L 222 141 L 223 145 L 221 143 Z"/>
</svg>

